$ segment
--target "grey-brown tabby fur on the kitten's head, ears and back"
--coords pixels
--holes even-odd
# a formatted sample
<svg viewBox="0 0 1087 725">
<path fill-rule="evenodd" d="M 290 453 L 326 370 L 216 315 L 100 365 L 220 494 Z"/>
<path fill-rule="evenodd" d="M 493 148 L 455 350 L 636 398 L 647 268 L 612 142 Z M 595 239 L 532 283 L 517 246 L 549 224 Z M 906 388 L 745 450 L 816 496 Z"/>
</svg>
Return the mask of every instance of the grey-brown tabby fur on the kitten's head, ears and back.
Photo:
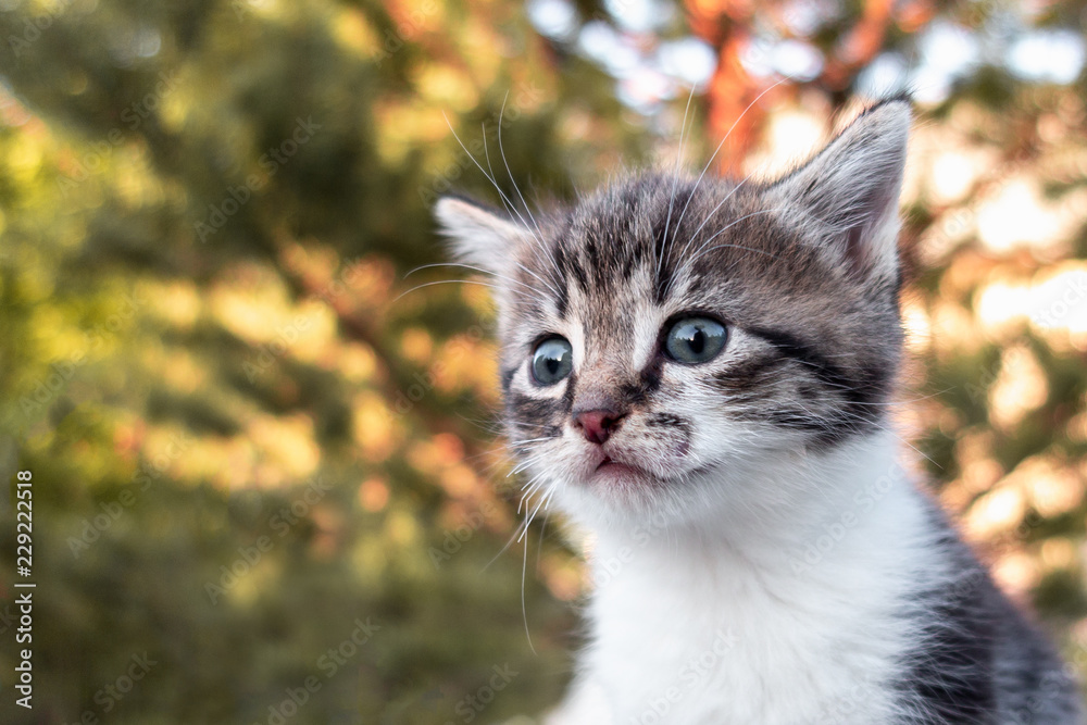
<svg viewBox="0 0 1087 725">
<path fill-rule="evenodd" d="M 745 336 L 744 355 L 707 365 L 700 385 L 714 391 L 715 414 L 752 440 L 820 455 L 885 428 L 902 358 L 896 201 L 908 127 L 908 104 L 892 99 L 774 182 L 635 175 L 527 223 L 442 199 L 437 215 L 459 257 L 499 287 L 514 448 L 529 458 L 533 446 L 516 441 L 561 438 L 585 405 L 640 411 L 623 424 L 632 435 L 689 447 L 699 421 L 680 403 L 690 383 L 670 377 L 661 354 L 638 365 L 623 354 L 646 300 L 710 312 Z M 534 345 L 571 318 L 586 353 L 562 395 L 518 383 Z M 678 488 L 700 471 L 654 473 Z M 896 692 L 897 722 L 1082 722 L 1075 679 L 1050 646 L 935 504 L 929 525 L 945 571 L 916 572 L 896 614 L 919 632 L 900 677 L 883 684 Z"/>
</svg>

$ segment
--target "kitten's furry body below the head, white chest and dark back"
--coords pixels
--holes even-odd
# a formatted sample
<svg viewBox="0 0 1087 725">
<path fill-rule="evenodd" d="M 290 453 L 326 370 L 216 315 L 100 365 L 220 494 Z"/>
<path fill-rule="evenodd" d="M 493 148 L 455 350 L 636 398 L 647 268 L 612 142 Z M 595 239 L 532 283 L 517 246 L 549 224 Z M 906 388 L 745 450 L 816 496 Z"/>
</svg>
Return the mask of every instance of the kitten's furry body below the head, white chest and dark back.
<svg viewBox="0 0 1087 725">
<path fill-rule="evenodd" d="M 897 445 L 876 436 L 817 474 L 796 461 L 751 479 L 837 489 L 803 504 L 804 527 L 738 517 L 601 533 L 592 641 L 548 722 L 1080 722 L 1062 664 L 888 468 Z"/>
</svg>

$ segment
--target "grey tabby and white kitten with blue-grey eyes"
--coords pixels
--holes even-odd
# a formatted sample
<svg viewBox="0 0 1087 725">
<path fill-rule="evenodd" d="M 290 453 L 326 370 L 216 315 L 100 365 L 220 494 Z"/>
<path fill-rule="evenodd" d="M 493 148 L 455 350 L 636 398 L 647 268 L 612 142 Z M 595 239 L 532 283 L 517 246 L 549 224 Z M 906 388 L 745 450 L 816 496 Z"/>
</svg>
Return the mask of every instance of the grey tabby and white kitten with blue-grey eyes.
<svg viewBox="0 0 1087 725">
<path fill-rule="evenodd" d="M 512 447 L 594 541 L 549 722 L 1083 722 L 899 460 L 909 126 L 883 101 L 771 183 L 647 174 L 516 222 L 438 202 L 497 288 Z"/>
</svg>

